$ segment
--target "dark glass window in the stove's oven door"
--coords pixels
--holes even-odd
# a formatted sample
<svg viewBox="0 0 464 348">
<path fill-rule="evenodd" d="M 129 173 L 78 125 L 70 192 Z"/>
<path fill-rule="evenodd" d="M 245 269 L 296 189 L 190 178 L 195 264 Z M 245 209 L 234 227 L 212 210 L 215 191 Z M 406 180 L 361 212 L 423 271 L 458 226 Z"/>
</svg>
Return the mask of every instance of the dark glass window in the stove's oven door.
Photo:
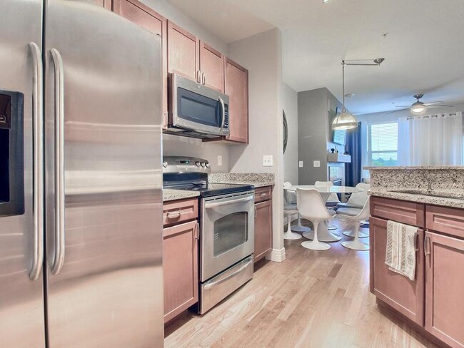
<svg viewBox="0 0 464 348">
<path fill-rule="evenodd" d="M 214 222 L 214 257 L 232 250 L 248 240 L 248 213 L 239 212 Z"/>
</svg>

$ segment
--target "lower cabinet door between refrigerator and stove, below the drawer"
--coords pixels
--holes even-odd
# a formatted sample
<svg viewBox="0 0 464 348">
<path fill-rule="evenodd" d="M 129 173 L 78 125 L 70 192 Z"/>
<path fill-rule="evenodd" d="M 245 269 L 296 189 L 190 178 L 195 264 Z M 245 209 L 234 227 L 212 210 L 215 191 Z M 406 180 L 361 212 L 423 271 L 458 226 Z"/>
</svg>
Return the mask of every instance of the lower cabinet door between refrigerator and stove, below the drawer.
<svg viewBox="0 0 464 348">
<path fill-rule="evenodd" d="M 164 322 L 198 302 L 198 223 L 163 230 Z"/>
</svg>

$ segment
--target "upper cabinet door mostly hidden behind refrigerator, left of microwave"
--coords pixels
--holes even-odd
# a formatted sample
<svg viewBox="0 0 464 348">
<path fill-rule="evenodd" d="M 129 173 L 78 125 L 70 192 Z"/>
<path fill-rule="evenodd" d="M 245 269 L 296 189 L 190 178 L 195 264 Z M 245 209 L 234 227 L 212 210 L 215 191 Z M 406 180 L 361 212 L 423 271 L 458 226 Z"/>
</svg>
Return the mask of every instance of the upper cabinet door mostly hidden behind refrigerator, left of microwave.
<svg viewBox="0 0 464 348">
<path fill-rule="evenodd" d="M 109 1 L 109 0 L 105 0 Z M 161 61 L 163 64 L 163 127 L 168 125 L 168 63 L 166 19 L 137 0 L 114 0 L 114 12 L 161 36 Z"/>
</svg>

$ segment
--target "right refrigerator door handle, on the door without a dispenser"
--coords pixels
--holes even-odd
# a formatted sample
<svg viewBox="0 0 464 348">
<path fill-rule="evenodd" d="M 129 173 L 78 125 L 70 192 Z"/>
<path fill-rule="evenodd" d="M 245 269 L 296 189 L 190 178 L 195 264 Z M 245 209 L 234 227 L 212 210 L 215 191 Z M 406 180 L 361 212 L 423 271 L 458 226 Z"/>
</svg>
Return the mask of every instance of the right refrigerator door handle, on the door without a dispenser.
<svg viewBox="0 0 464 348">
<path fill-rule="evenodd" d="M 55 257 L 51 273 L 59 274 L 64 264 L 64 66 L 61 54 L 51 48 L 55 71 Z"/>
</svg>

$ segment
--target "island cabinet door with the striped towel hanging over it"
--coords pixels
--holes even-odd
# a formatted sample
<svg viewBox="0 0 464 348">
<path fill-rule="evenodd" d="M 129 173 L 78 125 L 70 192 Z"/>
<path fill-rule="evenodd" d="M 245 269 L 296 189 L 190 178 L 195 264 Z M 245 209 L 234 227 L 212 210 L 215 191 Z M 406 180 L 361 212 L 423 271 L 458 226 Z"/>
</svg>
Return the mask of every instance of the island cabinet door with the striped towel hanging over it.
<svg viewBox="0 0 464 348">
<path fill-rule="evenodd" d="M 385 265 L 387 220 L 370 218 L 370 291 L 409 319 L 424 324 L 424 231 L 418 229 L 415 281 Z"/>
</svg>

